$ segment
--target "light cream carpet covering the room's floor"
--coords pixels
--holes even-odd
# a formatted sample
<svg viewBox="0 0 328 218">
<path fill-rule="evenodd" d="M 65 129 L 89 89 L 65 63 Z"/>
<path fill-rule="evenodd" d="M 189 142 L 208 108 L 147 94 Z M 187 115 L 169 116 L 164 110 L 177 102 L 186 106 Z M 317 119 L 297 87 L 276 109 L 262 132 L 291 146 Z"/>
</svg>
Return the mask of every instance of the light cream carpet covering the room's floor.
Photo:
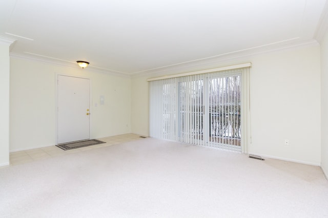
<svg viewBox="0 0 328 218">
<path fill-rule="evenodd" d="M 0 217 L 327 217 L 318 166 L 146 138 L 0 168 Z"/>
</svg>

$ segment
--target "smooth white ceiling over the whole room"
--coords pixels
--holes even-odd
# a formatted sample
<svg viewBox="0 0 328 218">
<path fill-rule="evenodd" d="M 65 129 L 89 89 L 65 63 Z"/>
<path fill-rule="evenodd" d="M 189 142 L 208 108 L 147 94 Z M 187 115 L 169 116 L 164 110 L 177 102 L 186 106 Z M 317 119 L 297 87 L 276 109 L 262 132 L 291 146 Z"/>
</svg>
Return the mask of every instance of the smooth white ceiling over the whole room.
<svg viewBox="0 0 328 218">
<path fill-rule="evenodd" d="M 0 36 L 16 40 L 11 55 L 136 75 L 313 40 L 326 1 L 0 2 Z"/>
</svg>

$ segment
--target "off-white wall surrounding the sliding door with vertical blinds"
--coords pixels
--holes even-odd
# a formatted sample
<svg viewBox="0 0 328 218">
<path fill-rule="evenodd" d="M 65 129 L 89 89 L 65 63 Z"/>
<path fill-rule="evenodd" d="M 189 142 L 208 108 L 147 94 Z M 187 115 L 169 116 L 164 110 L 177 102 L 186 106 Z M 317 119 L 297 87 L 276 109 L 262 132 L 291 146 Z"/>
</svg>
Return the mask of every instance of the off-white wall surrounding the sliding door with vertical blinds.
<svg viewBox="0 0 328 218">
<path fill-rule="evenodd" d="M 252 62 L 249 153 L 320 165 L 319 45 L 220 62 L 207 68 L 244 62 Z M 156 76 L 132 79 L 132 92 L 137 93 L 132 114 L 138 114 L 131 120 L 134 133 L 149 133 L 145 125 L 149 116 L 146 79 Z M 284 139 L 289 139 L 289 146 L 284 145 Z"/>
</svg>

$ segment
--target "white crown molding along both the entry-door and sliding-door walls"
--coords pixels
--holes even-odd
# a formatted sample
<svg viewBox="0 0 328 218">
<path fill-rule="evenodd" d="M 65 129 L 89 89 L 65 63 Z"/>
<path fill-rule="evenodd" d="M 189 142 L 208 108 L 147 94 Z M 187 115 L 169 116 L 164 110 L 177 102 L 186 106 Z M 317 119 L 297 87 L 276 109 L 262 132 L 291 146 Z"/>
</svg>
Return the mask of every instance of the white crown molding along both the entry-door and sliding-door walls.
<svg viewBox="0 0 328 218">
<path fill-rule="evenodd" d="M 1 37 L 0 37 L 0 39 L 1 39 Z M 14 40 L 11 40 L 11 41 L 13 42 Z M 178 64 L 174 64 L 174 65 L 170 65 L 170 66 L 163 66 L 163 67 L 158 67 L 155 69 L 148 69 L 148 70 L 133 72 L 133 73 L 118 72 L 118 71 L 101 68 L 101 67 L 96 67 L 96 66 L 92 66 L 92 65 L 91 66 L 89 65 L 88 68 L 86 68 L 85 70 L 88 70 L 88 71 L 90 70 L 90 71 L 94 71 L 94 72 L 99 72 L 99 73 L 104 73 L 104 74 L 109 74 L 109 75 L 119 76 L 119 77 L 128 77 L 128 78 L 150 76 L 150 75 L 152 77 L 156 77 L 156 76 L 162 76 L 165 74 L 181 74 L 184 72 L 221 67 L 222 64 L 224 64 L 222 62 L 227 62 L 227 61 L 230 61 L 230 62 L 237 61 L 238 62 L 239 61 L 238 59 L 240 59 L 240 58 L 247 59 L 251 56 L 260 55 L 260 54 L 264 54 L 264 53 L 279 52 L 279 51 L 284 51 L 284 50 L 291 50 L 291 49 L 297 49 L 297 48 L 301 48 L 301 47 L 310 47 L 310 46 L 319 46 L 319 43 L 315 39 L 299 41 L 298 38 L 293 38 L 293 39 L 284 40 L 281 42 L 270 43 L 267 45 L 252 47 L 250 49 L 221 54 L 221 55 L 214 56 L 214 57 L 203 58 L 203 59 L 198 59 L 198 60 L 194 60 L 194 61 L 178 63 Z M 9 56 L 11 58 L 45 62 L 45 63 L 49 63 L 49 64 L 53 64 L 53 65 L 72 67 L 75 69 L 79 68 L 79 66 L 76 64 L 76 62 L 50 58 L 50 57 L 46 57 L 46 56 L 33 55 L 32 53 L 31 54 L 27 53 L 24 55 L 17 54 L 17 53 L 10 53 Z M 250 61 L 250 60 L 247 60 L 247 61 Z"/>
</svg>

